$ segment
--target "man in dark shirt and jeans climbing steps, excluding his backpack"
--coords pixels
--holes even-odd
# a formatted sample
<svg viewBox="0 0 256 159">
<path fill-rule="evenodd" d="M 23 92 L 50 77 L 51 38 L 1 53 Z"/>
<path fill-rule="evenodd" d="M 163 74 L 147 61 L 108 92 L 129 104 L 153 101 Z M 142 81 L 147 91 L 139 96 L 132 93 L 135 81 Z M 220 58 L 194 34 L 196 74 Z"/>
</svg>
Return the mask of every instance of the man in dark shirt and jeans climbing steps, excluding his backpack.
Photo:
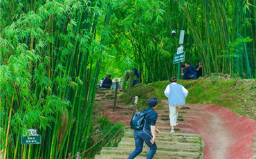
<svg viewBox="0 0 256 159">
<path fill-rule="evenodd" d="M 130 154 L 128 159 L 133 159 L 143 151 L 143 144 L 146 142 L 149 147 L 149 153 L 147 153 L 147 159 L 153 158 L 156 153 L 156 133 L 160 133 L 156 129 L 156 120 L 158 114 L 154 111 L 158 107 L 158 101 L 156 97 L 151 97 L 147 100 L 148 109 L 145 109 L 148 113 L 145 114 L 145 126 L 143 130 L 134 131 L 134 140 L 136 149 Z M 150 112 L 149 112 L 150 111 Z"/>
</svg>

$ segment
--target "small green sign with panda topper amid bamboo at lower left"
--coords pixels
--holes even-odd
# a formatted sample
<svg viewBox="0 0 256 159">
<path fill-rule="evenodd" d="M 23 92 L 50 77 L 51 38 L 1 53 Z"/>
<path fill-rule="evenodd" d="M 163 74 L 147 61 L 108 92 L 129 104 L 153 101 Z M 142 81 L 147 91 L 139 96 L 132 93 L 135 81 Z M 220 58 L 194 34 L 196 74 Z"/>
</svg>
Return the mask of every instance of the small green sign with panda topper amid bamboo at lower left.
<svg viewBox="0 0 256 159">
<path fill-rule="evenodd" d="M 21 144 L 41 144 L 41 135 L 37 134 L 37 129 L 28 129 L 30 136 L 21 136 Z"/>
</svg>

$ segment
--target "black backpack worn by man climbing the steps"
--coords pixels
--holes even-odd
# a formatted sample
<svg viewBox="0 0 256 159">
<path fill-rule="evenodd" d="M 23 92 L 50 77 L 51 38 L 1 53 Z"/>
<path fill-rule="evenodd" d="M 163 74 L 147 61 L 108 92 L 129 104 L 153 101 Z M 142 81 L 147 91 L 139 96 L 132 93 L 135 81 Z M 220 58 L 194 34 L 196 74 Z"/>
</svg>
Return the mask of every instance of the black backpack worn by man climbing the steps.
<svg viewBox="0 0 256 159">
<path fill-rule="evenodd" d="M 147 112 L 144 109 L 143 111 L 135 113 L 131 118 L 131 129 L 142 130 L 146 122 L 145 115 L 149 112 L 150 111 Z"/>
</svg>

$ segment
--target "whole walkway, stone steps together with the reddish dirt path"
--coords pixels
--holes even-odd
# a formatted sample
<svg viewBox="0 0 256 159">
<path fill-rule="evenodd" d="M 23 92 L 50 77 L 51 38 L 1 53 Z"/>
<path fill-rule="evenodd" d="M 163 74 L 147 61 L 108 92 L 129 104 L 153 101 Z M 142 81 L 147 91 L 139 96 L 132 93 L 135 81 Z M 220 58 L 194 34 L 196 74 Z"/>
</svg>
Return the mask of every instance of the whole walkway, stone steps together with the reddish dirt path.
<svg viewBox="0 0 256 159">
<path fill-rule="evenodd" d="M 104 111 L 103 117 L 108 116 L 111 122 L 124 122 L 129 127 L 133 106 L 118 103 L 116 111 L 112 112 L 113 100 L 100 99 L 100 102 Z M 250 159 L 254 157 L 255 121 L 247 117 L 239 117 L 229 109 L 220 106 L 187 104 L 189 109 L 179 111 L 179 126 L 176 127 L 174 134 L 170 134 L 167 100 L 162 100 L 162 103 L 163 106 L 156 109 L 158 113 L 156 127 L 161 133 L 156 136 L 158 151 L 154 158 L 201 158 L 203 156 L 205 159 Z M 96 158 L 102 156 L 102 158 L 127 158 L 135 148 L 132 132 L 131 129 L 126 129 L 125 136 L 118 147 L 104 147 Z M 205 144 L 203 154 L 201 139 Z M 190 142 L 191 140 L 193 142 Z M 145 146 L 143 153 L 137 158 L 145 158 L 147 151 L 148 147 Z"/>
</svg>

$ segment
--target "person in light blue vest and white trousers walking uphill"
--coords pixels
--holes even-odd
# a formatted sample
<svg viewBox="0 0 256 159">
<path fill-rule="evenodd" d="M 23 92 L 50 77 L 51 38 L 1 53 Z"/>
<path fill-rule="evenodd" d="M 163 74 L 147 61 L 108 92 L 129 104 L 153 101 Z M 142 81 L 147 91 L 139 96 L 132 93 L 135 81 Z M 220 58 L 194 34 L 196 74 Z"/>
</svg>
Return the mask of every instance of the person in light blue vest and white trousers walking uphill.
<svg viewBox="0 0 256 159">
<path fill-rule="evenodd" d="M 178 125 L 179 109 L 185 106 L 185 98 L 188 96 L 188 90 L 181 84 L 177 84 L 176 78 L 172 77 L 164 93 L 165 96 L 168 97 L 169 102 L 170 125 L 172 127 L 170 133 L 174 133 L 174 127 Z"/>
</svg>

